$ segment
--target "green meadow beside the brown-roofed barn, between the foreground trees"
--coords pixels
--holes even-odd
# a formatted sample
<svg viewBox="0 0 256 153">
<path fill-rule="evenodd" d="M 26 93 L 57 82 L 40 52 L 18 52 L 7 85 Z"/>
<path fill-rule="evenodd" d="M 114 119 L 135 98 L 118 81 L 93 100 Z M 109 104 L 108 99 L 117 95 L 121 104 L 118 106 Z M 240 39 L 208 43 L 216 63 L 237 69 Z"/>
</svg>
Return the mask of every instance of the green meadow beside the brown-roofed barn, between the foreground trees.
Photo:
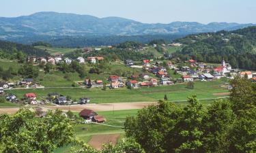
<svg viewBox="0 0 256 153">
<path fill-rule="evenodd" d="M 99 115 L 104 116 L 106 118 L 106 122 L 104 124 L 110 124 L 114 126 L 124 126 L 124 121 L 127 116 L 135 116 L 137 114 L 137 109 L 132 110 L 122 110 L 122 111 L 108 111 L 108 112 L 97 112 Z M 74 131 L 76 133 L 76 137 L 79 140 L 88 142 L 91 139 L 92 135 L 100 135 L 100 134 L 114 134 L 121 133 L 122 137 L 124 137 L 124 129 L 119 127 L 112 126 L 104 126 L 99 124 L 76 124 L 74 126 Z M 55 150 L 55 153 L 63 153 L 68 152 L 71 146 L 64 146 L 63 148 L 58 148 Z"/>
</svg>

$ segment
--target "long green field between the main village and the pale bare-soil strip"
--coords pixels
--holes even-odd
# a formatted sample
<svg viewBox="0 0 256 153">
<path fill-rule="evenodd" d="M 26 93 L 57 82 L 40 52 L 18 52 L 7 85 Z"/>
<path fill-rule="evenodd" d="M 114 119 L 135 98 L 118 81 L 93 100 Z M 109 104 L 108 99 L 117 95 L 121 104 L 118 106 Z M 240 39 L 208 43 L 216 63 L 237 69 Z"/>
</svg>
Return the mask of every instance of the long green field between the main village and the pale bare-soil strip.
<svg viewBox="0 0 256 153">
<path fill-rule="evenodd" d="M 50 92 L 58 92 L 61 95 L 70 95 L 72 99 L 89 97 L 91 103 L 124 103 L 124 102 L 146 102 L 158 101 L 164 95 L 170 101 L 186 100 L 188 96 L 197 95 L 199 99 L 221 97 L 214 93 L 228 92 L 224 88 L 226 82 L 216 80 L 212 82 L 195 82 L 195 88 L 189 89 L 185 84 L 175 84 L 173 86 L 156 86 L 150 88 L 138 88 L 129 90 L 127 88 L 101 90 L 101 88 L 44 88 L 44 89 L 22 89 L 7 90 L 18 98 L 22 98 L 27 92 L 34 92 L 38 97 L 46 97 Z"/>
</svg>

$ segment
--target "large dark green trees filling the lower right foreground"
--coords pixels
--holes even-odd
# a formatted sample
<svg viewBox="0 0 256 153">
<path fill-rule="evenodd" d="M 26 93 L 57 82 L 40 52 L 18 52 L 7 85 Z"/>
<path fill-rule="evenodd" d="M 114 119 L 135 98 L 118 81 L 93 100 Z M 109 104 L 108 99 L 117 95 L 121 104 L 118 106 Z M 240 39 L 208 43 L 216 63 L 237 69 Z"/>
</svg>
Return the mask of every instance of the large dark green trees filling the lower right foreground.
<svg viewBox="0 0 256 153">
<path fill-rule="evenodd" d="M 210 107 L 193 96 L 184 108 L 160 101 L 141 109 L 126 118 L 126 135 L 145 152 L 256 152 L 255 84 L 237 78 L 231 86 L 230 101 Z"/>
</svg>

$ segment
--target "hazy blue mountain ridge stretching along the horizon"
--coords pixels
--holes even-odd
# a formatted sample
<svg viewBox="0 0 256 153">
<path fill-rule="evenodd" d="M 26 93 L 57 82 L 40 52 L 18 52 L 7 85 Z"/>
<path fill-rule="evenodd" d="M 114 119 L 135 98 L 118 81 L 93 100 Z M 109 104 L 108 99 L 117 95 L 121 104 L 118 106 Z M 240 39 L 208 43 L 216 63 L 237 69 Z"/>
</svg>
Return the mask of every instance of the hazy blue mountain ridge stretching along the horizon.
<svg viewBox="0 0 256 153">
<path fill-rule="evenodd" d="M 57 12 L 38 12 L 29 16 L 0 18 L 0 39 L 17 41 L 35 37 L 98 37 L 109 35 L 186 35 L 191 33 L 236 30 L 255 24 L 226 22 L 171 22 L 169 24 L 145 24 L 134 20 Z M 20 40 L 21 41 L 21 40 Z"/>
</svg>

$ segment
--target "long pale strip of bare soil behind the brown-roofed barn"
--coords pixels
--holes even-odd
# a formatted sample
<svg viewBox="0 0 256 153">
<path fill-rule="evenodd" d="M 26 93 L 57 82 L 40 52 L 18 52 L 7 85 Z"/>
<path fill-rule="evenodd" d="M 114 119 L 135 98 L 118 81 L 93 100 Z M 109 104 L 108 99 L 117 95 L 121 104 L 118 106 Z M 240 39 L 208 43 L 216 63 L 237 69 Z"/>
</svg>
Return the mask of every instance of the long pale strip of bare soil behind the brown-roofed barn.
<svg viewBox="0 0 256 153">
<path fill-rule="evenodd" d="M 125 109 L 142 109 L 149 105 L 154 105 L 156 102 L 145 103 L 102 103 L 102 104 L 89 104 L 89 105 L 60 105 L 60 106 L 48 106 L 49 109 L 62 109 L 64 111 L 80 112 L 83 109 L 92 109 L 98 111 L 112 111 L 112 110 L 125 110 Z"/>
</svg>

